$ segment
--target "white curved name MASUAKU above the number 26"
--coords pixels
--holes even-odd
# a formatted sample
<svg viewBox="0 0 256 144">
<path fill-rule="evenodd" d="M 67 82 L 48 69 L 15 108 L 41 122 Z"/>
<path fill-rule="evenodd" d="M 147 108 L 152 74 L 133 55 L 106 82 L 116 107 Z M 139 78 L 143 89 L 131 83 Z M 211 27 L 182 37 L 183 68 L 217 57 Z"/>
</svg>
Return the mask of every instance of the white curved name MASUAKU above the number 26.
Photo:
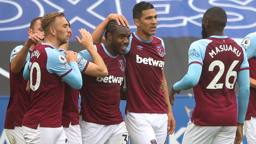
<svg viewBox="0 0 256 144">
<path fill-rule="evenodd" d="M 239 52 L 239 50 L 237 48 L 233 48 L 232 45 L 220 45 L 219 48 L 216 46 L 215 47 L 215 51 L 212 50 L 212 52 L 209 52 L 209 55 L 213 58 L 214 55 L 217 55 L 219 52 L 223 52 L 223 51 L 232 51 L 234 52 L 235 55 L 237 55 L 237 57 L 239 57 L 241 55 L 241 52 Z"/>
</svg>

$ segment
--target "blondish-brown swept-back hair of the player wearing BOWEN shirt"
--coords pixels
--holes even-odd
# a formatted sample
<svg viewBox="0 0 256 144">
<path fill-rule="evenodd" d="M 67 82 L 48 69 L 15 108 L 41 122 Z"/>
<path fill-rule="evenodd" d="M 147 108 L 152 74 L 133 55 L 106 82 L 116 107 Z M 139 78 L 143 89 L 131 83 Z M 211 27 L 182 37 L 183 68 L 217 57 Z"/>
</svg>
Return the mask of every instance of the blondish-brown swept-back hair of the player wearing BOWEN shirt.
<svg viewBox="0 0 256 144">
<path fill-rule="evenodd" d="M 52 12 L 52 13 L 47 13 L 43 16 L 41 20 L 41 27 L 44 30 L 44 35 L 49 34 L 49 27 L 51 24 L 53 24 L 57 18 L 60 17 L 65 17 L 65 14 L 63 12 Z"/>
</svg>

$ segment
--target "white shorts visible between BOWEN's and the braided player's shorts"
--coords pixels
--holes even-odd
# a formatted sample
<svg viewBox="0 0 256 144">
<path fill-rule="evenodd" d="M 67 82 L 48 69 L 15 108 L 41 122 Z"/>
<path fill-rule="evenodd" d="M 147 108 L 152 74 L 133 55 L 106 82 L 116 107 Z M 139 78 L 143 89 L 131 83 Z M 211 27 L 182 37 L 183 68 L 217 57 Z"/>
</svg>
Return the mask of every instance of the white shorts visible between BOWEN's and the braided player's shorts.
<svg viewBox="0 0 256 144">
<path fill-rule="evenodd" d="M 69 144 L 82 144 L 81 129 L 79 125 L 71 125 L 69 127 L 63 127 L 66 133 Z"/>
</svg>

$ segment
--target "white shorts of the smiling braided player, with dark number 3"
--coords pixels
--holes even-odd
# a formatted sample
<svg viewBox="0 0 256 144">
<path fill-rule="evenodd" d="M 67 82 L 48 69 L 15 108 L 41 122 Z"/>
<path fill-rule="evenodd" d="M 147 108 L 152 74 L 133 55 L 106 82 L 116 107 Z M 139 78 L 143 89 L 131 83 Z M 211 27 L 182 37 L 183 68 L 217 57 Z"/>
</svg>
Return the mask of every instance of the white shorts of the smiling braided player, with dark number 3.
<svg viewBox="0 0 256 144">
<path fill-rule="evenodd" d="M 124 121 L 116 125 L 100 125 L 86 122 L 80 115 L 79 125 L 83 144 L 129 144 Z"/>
</svg>

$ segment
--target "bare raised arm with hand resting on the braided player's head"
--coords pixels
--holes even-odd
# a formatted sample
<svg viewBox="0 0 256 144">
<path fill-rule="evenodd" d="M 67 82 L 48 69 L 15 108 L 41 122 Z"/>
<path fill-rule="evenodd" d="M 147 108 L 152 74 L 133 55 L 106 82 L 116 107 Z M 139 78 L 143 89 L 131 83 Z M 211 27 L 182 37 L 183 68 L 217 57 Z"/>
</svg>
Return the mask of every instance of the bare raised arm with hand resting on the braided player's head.
<svg viewBox="0 0 256 144">
<path fill-rule="evenodd" d="M 106 30 L 106 26 L 108 25 L 109 21 L 116 20 L 118 25 L 123 25 L 129 27 L 129 23 L 123 15 L 120 14 L 110 14 L 108 17 L 100 23 L 96 29 L 92 32 L 93 44 L 99 44 L 105 42 L 105 38 L 102 37 L 104 31 Z"/>
</svg>

